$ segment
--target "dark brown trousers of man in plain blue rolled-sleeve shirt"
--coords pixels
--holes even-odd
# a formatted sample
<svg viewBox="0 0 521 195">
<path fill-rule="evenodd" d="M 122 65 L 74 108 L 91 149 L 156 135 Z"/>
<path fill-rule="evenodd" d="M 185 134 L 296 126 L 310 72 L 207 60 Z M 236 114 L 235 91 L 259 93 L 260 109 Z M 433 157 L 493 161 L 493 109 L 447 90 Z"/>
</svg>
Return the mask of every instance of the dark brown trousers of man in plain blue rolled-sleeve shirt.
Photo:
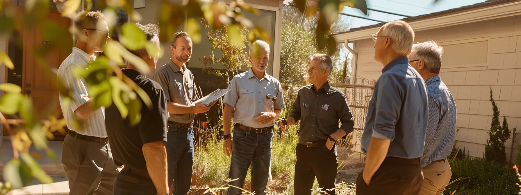
<svg viewBox="0 0 521 195">
<path fill-rule="evenodd" d="M 356 195 L 417 195 L 421 189 L 420 158 L 387 157 L 367 185 L 362 173 L 356 180 Z"/>
</svg>

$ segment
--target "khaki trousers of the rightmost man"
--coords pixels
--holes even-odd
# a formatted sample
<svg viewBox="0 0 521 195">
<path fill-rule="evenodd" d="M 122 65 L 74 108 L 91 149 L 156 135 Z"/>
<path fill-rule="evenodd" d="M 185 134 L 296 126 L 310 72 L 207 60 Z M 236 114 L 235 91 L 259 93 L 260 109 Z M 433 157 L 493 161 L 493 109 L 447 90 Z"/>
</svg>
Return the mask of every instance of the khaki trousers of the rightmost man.
<svg viewBox="0 0 521 195">
<path fill-rule="evenodd" d="M 451 165 L 445 159 L 442 162 L 433 162 L 422 168 L 424 179 L 421 185 L 421 195 L 441 195 L 452 176 Z"/>
</svg>

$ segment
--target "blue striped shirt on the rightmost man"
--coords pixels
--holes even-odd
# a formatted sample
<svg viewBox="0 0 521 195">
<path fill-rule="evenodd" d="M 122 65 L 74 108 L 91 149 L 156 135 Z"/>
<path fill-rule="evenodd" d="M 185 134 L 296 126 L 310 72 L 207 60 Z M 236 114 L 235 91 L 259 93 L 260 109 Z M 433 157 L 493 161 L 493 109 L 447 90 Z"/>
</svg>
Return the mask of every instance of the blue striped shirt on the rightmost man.
<svg viewBox="0 0 521 195">
<path fill-rule="evenodd" d="M 456 103 L 449 88 L 440 76 L 430 77 L 425 84 L 429 97 L 429 122 L 424 157 L 420 162 L 422 167 L 451 154 L 456 128 Z"/>
</svg>

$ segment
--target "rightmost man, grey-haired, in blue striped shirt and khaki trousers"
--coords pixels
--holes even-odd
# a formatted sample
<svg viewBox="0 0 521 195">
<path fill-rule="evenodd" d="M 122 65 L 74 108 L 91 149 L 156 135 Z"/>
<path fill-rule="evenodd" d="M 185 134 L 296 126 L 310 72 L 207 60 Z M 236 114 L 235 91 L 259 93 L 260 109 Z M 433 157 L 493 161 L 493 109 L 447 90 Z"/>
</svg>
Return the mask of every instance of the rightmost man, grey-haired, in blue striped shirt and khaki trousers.
<svg viewBox="0 0 521 195">
<path fill-rule="evenodd" d="M 424 174 L 420 194 L 442 194 L 451 180 L 447 157 L 454 145 L 456 106 L 451 92 L 439 76 L 443 47 L 427 41 L 413 46 L 410 64 L 425 80 L 429 99 L 429 121 L 425 137 L 424 157 L 420 165 Z"/>
</svg>

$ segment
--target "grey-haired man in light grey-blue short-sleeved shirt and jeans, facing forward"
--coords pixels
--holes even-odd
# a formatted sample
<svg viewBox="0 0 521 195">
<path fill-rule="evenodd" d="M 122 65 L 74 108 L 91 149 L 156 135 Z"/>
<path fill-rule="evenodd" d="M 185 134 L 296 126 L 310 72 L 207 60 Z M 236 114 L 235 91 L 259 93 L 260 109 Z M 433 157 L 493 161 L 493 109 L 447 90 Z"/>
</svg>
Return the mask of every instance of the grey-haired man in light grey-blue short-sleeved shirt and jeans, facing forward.
<svg viewBox="0 0 521 195">
<path fill-rule="evenodd" d="M 250 46 L 248 58 L 252 62 L 252 68 L 233 77 L 222 111 L 223 150 L 228 156 L 231 155 L 229 178 L 238 178 L 231 181 L 230 185 L 242 188 L 248 168 L 252 165 L 251 191 L 259 195 L 266 194 L 274 121 L 280 118 L 285 107 L 279 81 L 266 73 L 268 56 L 268 43 L 255 41 Z M 277 97 L 275 101 L 273 97 Z M 235 125 L 232 142 L 230 126 L 233 110 Z M 228 195 L 239 194 L 242 194 L 242 190 L 228 188 Z"/>
</svg>

